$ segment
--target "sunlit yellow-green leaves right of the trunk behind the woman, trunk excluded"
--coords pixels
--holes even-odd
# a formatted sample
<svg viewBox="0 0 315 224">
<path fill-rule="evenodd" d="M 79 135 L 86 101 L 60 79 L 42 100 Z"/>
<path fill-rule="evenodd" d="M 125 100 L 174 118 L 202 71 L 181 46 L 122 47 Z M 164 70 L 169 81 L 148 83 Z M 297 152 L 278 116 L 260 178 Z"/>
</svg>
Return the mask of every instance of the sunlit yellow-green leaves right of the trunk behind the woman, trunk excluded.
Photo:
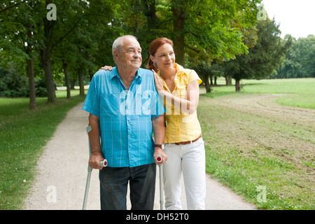
<svg viewBox="0 0 315 224">
<path fill-rule="evenodd" d="M 183 6 L 188 2 L 181 1 Z M 229 60 L 246 53 L 241 29 L 255 26 L 257 3 L 260 1 L 191 1 L 183 32 L 192 64 Z"/>
</svg>

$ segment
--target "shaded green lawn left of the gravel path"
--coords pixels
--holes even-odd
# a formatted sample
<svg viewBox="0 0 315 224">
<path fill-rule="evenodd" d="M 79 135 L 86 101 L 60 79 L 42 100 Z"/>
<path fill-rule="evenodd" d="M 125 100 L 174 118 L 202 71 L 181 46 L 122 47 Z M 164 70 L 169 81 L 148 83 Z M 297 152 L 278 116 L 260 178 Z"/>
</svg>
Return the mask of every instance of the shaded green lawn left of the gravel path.
<svg viewBox="0 0 315 224">
<path fill-rule="evenodd" d="M 22 209 L 43 146 L 69 109 L 85 99 L 66 99 L 65 91 L 56 95 L 57 104 L 37 98 L 36 111 L 29 111 L 27 98 L 0 98 L 0 210 Z"/>
</svg>

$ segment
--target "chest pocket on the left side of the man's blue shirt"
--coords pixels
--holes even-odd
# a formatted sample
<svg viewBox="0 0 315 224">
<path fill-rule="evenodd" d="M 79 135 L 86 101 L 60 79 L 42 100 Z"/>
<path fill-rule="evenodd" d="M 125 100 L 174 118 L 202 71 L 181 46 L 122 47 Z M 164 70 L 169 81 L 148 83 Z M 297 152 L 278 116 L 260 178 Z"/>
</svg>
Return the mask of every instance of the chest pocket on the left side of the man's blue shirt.
<svg viewBox="0 0 315 224">
<path fill-rule="evenodd" d="M 119 94 L 101 94 L 100 112 L 104 117 L 117 117 L 119 115 L 120 95 Z"/>
</svg>

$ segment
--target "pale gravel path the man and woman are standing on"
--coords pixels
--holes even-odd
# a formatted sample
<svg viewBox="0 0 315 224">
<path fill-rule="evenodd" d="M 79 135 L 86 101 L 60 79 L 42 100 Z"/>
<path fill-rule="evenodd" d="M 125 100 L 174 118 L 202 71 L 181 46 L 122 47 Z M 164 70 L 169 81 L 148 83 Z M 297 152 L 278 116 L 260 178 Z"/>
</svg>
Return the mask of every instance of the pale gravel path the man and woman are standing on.
<svg viewBox="0 0 315 224">
<path fill-rule="evenodd" d="M 44 148 L 38 160 L 38 174 L 25 200 L 24 209 L 32 210 L 80 210 L 83 205 L 87 176 L 88 144 L 85 127 L 87 112 L 78 104 L 59 124 L 57 131 Z M 157 169 L 158 171 L 158 169 Z M 160 209 L 159 173 L 155 193 L 155 207 Z M 186 207 L 185 190 L 182 184 L 182 204 Z M 100 209 L 98 171 L 93 170 L 87 209 Z M 127 202 L 130 209 L 130 202 Z M 253 204 L 244 202 L 241 196 L 207 175 L 206 209 L 251 210 Z"/>
</svg>

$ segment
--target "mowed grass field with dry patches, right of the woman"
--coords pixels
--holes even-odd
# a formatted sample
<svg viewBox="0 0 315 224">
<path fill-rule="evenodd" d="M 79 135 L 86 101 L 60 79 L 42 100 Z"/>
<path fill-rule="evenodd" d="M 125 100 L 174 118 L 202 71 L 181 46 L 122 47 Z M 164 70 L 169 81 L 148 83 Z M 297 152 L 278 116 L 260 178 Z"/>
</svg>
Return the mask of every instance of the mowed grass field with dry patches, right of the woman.
<svg viewBox="0 0 315 224">
<path fill-rule="evenodd" d="M 315 209 L 315 79 L 243 84 L 200 97 L 207 172 L 257 209 Z"/>
</svg>

